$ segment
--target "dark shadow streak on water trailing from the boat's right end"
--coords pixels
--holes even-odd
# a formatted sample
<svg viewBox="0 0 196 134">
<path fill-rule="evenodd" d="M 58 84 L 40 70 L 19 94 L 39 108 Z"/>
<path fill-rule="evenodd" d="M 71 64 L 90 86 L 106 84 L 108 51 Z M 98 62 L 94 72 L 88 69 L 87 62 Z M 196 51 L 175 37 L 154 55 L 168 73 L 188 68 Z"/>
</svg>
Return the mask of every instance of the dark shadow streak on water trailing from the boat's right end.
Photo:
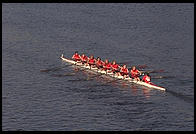
<svg viewBox="0 0 196 134">
<path fill-rule="evenodd" d="M 188 97 L 186 95 L 183 95 L 181 93 L 177 93 L 177 92 L 174 92 L 174 91 L 171 91 L 171 90 L 167 90 L 166 92 L 172 94 L 173 96 L 179 98 L 179 99 L 182 99 L 188 103 L 193 103 L 194 102 L 194 98 L 191 98 L 191 97 Z"/>
</svg>

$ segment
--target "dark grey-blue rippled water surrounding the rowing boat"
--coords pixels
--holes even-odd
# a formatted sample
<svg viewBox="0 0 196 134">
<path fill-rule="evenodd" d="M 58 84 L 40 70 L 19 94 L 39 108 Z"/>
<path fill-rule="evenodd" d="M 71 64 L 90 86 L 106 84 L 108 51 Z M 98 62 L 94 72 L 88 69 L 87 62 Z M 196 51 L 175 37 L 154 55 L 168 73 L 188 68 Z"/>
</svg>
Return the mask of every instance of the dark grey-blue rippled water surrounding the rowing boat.
<svg viewBox="0 0 196 134">
<path fill-rule="evenodd" d="M 3 4 L 3 130 L 194 130 L 193 4 Z M 93 77 L 63 53 L 163 69 L 166 92 Z M 63 76 L 75 73 L 71 76 Z M 110 82 L 109 84 L 104 84 Z"/>
</svg>

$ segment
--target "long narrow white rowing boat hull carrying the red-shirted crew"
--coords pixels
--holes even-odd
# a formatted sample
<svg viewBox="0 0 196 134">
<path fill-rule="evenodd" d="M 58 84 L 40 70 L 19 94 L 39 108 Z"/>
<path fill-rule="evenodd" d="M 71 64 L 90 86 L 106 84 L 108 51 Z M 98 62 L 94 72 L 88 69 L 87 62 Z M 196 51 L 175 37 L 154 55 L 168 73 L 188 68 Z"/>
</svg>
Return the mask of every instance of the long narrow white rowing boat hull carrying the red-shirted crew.
<svg viewBox="0 0 196 134">
<path fill-rule="evenodd" d="M 110 77 L 113 77 L 113 78 L 116 78 L 116 79 L 125 80 L 125 81 L 128 81 L 128 82 L 136 83 L 136 84 L 138 84 L 138 85 L 146 86 L 146 87 L 153 88 L 153 89 L 159 89 L 159 90 L 162 90 L 162 91 L 165 91 L 165 90 L 166 90 L 165 88 L 160 87 L 160 86 L 157 86 L 157 85 L 155 85 L 155 84 L 153 84 L 153 83 L 145 83 L 145 82 L 142 82 L 142 81 L 136 81 L 136 80 L 133 80 L 132 78 L 125 78 L 125 79 L 124 79 L 123 76 L 117 76 L 117 75 L 115 75 L 114 73 L 109 73 L 109 72 L 107 72 L 107 71 L 100 70 L 100 69 L 98 69 L 98 68 L 96 68 L 96 67 L 90 67 L 90 66 L 83 65 L 83 64 L 80 63 L 80 62 L 75 62 L 75 61 L 73 61 L 73 60 L 71 60 L 71 59 L 65 58 L 65 57 L 63 56 L 63 54 L 61 55 L 60 58 L 61 58 L 63 61 L 65 61 L 65 62 L 68 62 L 68 63 L 73 64 L 73 65 L 77 65 L 77 66 L 79 66 L 79 67 L 81 67 L 81 68 L 86 68 L 86 69 L 91 70 L 91 71 L 93 71 L 93 72 L 95 72 L 95 73 L 105 74 L 105 75 L 107 75 L 107 76 L 110 76 Z"/>
</svg>

